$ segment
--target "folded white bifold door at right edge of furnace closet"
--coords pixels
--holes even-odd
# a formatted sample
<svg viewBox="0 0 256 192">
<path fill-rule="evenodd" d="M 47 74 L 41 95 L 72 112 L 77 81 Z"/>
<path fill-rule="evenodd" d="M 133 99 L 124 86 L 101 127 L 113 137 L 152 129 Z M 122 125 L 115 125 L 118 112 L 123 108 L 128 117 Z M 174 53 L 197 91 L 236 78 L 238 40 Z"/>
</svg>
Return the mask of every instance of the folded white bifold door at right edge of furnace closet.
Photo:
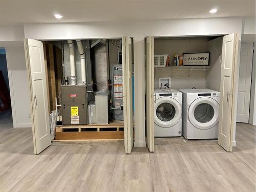
<svg viewBox="0 0 256 192">
<path fill-rule="evenodd" d="M 132 39 L 122 38 L 122 72 L 123 72 L 123 123 L 124 148 L 130 154 L 133 148 L 133 90 L 132 90 Z"/>
</svg>

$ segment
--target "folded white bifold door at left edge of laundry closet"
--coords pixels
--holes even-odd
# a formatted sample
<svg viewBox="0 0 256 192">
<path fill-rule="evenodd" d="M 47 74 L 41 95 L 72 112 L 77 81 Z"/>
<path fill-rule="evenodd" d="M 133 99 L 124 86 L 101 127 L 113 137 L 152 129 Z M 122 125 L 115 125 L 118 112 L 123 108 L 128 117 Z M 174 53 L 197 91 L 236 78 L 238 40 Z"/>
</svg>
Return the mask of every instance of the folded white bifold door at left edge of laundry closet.
<svg viewBox="0 0 256 192">
<path fill-rule="evenodd" d="M 146 143 L 155 151 L 154 135 L 154 36 L 146 38 Z"/>
</svg>

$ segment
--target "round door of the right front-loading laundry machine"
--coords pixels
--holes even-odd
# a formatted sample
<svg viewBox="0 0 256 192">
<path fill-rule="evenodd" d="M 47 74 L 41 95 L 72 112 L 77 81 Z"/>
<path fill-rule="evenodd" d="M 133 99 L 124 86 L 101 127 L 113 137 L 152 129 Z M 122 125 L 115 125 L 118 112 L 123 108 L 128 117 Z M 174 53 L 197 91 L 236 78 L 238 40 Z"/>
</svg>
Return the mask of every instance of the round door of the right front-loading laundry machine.
<svg viewBox="0 0 256 192">
<path fill-rule="evenodd" d="M 188 118 L 198 129 L 207 130 L 219 122 L 220 104 L 210 97 L 200 97 L 190 104 Z"/>
</svg>

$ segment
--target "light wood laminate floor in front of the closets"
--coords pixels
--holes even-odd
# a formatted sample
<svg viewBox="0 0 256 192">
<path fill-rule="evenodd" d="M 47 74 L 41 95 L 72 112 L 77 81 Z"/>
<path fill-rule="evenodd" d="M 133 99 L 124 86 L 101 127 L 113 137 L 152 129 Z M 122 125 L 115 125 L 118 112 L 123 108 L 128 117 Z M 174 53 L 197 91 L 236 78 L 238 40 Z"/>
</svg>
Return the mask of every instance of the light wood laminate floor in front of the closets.
<svg viewBox="0 0 256 192">
<path fill-rule="evenodd" d="M 54 143 L 33 155 L 31 129 L 0 127 L 0 191 L 255 191 L 255 126 L 237 147 L 156 138 L 155 153 L 123 142 Z"/>
</svg>

